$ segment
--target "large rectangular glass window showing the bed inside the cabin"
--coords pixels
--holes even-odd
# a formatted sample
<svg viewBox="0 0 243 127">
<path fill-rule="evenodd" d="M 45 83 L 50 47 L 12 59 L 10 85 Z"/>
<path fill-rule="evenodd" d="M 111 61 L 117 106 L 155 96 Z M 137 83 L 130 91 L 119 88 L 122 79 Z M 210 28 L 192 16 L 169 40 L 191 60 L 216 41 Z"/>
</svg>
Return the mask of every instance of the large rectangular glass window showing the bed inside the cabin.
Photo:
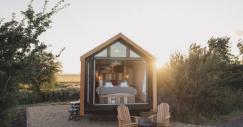
<svg viewBox="0 0 243 127">
<path fill-rule="evenodd" d="M 95 104 L 148 103 L 147 69 L 142 60 L 95 60 Z"/>
</svg>

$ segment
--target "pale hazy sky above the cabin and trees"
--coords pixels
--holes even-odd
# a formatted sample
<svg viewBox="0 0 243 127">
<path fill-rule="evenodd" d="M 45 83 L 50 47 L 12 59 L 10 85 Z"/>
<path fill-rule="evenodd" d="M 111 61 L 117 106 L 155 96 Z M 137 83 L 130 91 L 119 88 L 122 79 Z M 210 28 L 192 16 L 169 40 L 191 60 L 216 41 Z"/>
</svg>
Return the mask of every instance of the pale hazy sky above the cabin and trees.
<svg viewBox="0 0 243 127">
<path fill-rule="evenodd" d="M 33 6 L 41 10 L 44 0 Z M 51 0 L 50 9 L 57 0 Z M 0 17 L 10 19 L 29 0 L 0 0 Z M 62 73 L 78 74 L 80 56 L 118 33 L 153 54 L 160 65 L 191 43 L 203 46 L 211 37 L 231 37 L 232 53 L 243 39 L 243 0 L 66 0 L 70 6 L 52 17 L 52 28 L 40 40 L 58 53 Z"/>
</svg>

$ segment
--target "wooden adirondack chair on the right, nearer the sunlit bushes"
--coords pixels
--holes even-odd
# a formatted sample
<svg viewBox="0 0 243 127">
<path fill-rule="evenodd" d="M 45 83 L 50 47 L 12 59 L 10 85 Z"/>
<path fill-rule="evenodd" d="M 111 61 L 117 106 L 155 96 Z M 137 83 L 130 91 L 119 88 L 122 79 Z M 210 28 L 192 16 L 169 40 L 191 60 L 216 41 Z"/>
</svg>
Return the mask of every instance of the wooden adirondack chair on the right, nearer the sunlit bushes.
<svg viewBox="0 0 243 127">
<path fill-rule="evenodd" d="M 156 115 L 149 116 L 151 121 L 155 122 L 157 126 L 170 127 L 170 107 L 167 103 L 161 103 L 158 106 Z"/>
</svg>

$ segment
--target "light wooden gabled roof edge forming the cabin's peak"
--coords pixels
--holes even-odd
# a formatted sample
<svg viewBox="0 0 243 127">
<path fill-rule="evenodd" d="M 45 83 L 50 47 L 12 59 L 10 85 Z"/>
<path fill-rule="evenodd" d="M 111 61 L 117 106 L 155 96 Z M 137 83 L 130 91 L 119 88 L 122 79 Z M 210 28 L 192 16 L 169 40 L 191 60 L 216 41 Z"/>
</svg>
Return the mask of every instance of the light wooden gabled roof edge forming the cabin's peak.
<svg viewBox="0 0 243 127">
<path fill-rule="evenodd" d="M 152 60 L 155 60 L 155 57 L 152 54 L 150 54 L 149 52 L 147 52 L 145 49 L 143 49 L 141 46 L 139 46 L 138 44 L 136 44 L 135 42 L 133 42 L 132 40 L 130 40 L 128 37 L 126 37 L 122 33 L 119 33 L 119 34 L 115 35 L 111 39 L 105 41 L 101 45 L 99 45 L 96 48 L 92 49 L 91 51 L 85 53 L 84 55 L 81 56 L 81 60 L 84 60 L 85 58 L 93 55 L 94 53 L 99 52 L 100 50 L 108 47 L 109 45 L 111 45 L 112 43 L 114 43 L 115 41 L 117 41 L 119 39 L 124 40 L 125 43 L 128 43 L 129 45 L 131 45 L 134 49 L 138 50 L 144 56 L 146 56 L 146 57 L 148 57 L 148 58 L 150 58 Z"/>
</svg>

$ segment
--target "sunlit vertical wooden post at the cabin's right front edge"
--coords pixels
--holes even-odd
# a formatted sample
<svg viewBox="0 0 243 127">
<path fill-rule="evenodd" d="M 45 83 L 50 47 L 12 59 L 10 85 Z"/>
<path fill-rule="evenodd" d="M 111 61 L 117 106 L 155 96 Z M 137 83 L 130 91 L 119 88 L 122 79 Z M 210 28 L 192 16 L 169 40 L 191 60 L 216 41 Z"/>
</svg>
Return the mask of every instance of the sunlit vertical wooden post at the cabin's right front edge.
<svg viewBox="0 0 243 127">
<path fill-rule="evenodd" d="M 153 65 L 153 111 L 157 112 L 157 69 L 156 66 Z"/>
</svg>

